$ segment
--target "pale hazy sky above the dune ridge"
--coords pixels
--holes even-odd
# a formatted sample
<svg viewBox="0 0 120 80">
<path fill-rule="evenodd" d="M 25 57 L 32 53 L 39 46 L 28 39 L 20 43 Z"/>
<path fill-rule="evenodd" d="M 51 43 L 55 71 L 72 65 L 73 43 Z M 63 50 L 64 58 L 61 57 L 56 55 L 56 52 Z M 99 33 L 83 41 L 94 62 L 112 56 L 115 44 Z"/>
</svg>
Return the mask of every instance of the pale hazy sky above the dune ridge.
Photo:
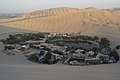
<svg viewBox="0 0 120 80">
<path fill-rule="evenodd" d="M 0 0 L 0 13 L 31 12 L 53 7 L 120 8 L 120 0 Z"/>
</svg>

